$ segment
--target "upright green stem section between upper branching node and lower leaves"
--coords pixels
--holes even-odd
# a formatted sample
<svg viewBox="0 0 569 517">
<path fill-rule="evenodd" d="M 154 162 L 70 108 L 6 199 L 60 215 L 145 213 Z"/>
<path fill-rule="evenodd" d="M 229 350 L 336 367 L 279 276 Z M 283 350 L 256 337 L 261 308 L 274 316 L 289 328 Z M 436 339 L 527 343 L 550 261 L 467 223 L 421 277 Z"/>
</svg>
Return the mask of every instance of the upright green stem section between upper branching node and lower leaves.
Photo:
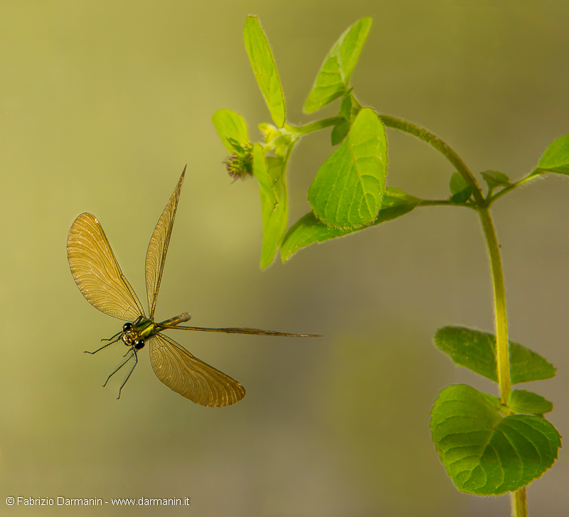
<svg viewBox="0 0 569 517">
<path fill-rule="evenodd" d="M 500 398 L 503 404 L 508 403 L 511 391 L 510 350 L 508 342 L 508 320 L 506 316 L 506 291 L 504 289 L 504 273 L 500 260 L 500 251 L 494 224 L 487 207 L 479 207 L 478 213 L 482 221 L 484 236 L 490 255 L 492 283 L 494 284 L 494 327 L 496 327 L 496 363 L 498 364 L 498 383 Z"/>
</svg>

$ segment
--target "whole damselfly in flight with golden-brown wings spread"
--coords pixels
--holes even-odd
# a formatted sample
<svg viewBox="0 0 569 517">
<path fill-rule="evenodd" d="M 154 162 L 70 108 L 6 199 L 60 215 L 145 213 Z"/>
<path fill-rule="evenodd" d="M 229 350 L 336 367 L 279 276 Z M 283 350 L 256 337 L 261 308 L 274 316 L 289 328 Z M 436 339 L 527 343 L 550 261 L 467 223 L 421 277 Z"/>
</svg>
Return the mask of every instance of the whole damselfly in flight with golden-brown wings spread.
<svg viewBox="0 0 569 517">
<path fill-rule="evenodd" d="M 103 386 L 106 386 L 109 379 L 123 366 L 130 365 L 129 372 L 119 388 L 120 398 L 124 384 L 137 366 L 137 353 L 145 344 L 149 344 L 152 369 L 166 386 L 202 406 L 229 406 L 245 396 L 245 388 L 230 376 L 193 357 L 184 347 L 162 334 L 164 330 L 294 337 L 319 337 L 321 334 L 289 334 L 248 328 L 186 327 L 180 324 L 190 320 L 187 312 L 161 323 L 154 322 L 156 298 L 185 173 L 186 168 L 158 219 L 148 245 L 146 281 L 149 317 L 144 315 L 137 295 L 120 271 L 105 232 L 92 214 L 81 214 L 71 225 L 67 239 L 67 256 L 75 283 L 87 301 L 105 314 L 127 321 L 120 332 L 110 339 L 102 340 L 107 341 L 107 344 L 95 352 L 87 352 L 95 354 L 110 344 L 121 341 L 128 347 L 124 361 L 110 374 Z"/>
</svg>

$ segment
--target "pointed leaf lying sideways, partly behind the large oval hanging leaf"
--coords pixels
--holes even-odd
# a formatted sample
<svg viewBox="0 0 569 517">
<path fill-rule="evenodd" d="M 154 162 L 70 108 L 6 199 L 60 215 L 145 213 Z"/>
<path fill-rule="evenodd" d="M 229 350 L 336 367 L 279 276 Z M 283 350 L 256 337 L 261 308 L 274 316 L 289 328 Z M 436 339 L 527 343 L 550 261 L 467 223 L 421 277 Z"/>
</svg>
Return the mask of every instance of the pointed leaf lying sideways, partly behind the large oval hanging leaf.
<svg viewBox="0 0 569 517">
<path fill-rule="evenodd" d="M 282 261 L 286 262 L 299 249 L 314 244 L 314 242 L 324 242 L 353 232 L 359 232 L 360 230 L 405 215 L 413 210 L 419 201 L 417 197 L 405 194 L 403 190 L 386 187 L 378 217 L 371 224 L 362 227 L 329 227 L 317 219 L 312 212 L 309 212 L 304 217 L 301 217 L 285 235 L 280 249 Z"/>
</svg>

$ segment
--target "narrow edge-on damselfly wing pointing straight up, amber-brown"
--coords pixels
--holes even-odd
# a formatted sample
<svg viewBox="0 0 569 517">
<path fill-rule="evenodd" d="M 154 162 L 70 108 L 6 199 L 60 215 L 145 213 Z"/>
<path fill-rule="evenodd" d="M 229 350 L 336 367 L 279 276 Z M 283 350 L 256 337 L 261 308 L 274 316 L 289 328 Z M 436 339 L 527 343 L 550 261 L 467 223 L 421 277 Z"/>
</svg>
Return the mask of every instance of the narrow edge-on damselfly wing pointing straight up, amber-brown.
<svg viewBox="0 0 569 517">
<path fill-rule="evenodd" d="M 164 270 L 164 261 L 166 261 L 166 252 L 170 243 L 170 235 L 174 226 L 174 217 L 176 217 L 176 208 L 180 198 L 180 190 L 184 183 L 184 175 L 186 168 L 180 176 L 176 190 L 171 195 L 168 205 L 164 208 L 154 233 L 151 236 L 147 251 L 146 276 L 147 276 L 147 295 L 148 307 L 150 310 L 150 319 L 154 319 L 154 309 L 156 308 L 156 298 L 160 288 L 162 271 Z"/>
</svg>

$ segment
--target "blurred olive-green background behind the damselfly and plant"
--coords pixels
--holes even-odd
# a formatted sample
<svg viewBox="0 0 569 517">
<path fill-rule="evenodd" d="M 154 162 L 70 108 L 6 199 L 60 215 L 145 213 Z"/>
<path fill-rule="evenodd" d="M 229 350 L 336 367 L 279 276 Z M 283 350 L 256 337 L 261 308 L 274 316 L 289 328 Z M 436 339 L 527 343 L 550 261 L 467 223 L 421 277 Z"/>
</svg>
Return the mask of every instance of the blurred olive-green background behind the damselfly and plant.
<svg viewBox="0 0 569 517">
<path fill-rule="evenodd" d="M 349 4 L 349 5 L 348 5 Z M 491 283 L 473 212 L 436 207 L 312 246 L 259 271 L 253 181 L 232 183 L 211 116 L 270 121 L 243 47 L 260 16 L 293 124 L 330 46 L 373 28 L 358 99 L 441 136 L 474 171 L 519 178 L 569 133 L 569 4 L 538 1 L 16 1 L 0 4 L 0 513 L 7 496 L 190 497 L 171 508 L 67 515 L 506 516 L 507 497 L 458 494 L 430 440 L 429 411 L 454 382 L 496 393 L 432 345 L 444 325 L 492 330 Z M 388 131 L 388 184 L 448 195 L 452 168 Z M 331 153 L 329 130 L 289 166 L 289 224 Z M 202 408 L 162 385 L 146 350 L 116 401 L 100 386 L 122 347 L 83 354 L 118 320 L 92 308 L 65 256 L 73 219 L 100 219 L 141 300 L 144 256 L 182 168 L 186 182 L 156 317 L 193 325 L 321 332 L 323 339 L 170 334 L 248 390 Z M 548 177 L 494 208 L 511 339 L 558 367 L 523 386 L 569 429 L 569 181 Z M 181 334 L 181 333 L 180 333 Z M 531 516 L 569 506 L 564 450 L 528 489 Z"/>
</svg>

